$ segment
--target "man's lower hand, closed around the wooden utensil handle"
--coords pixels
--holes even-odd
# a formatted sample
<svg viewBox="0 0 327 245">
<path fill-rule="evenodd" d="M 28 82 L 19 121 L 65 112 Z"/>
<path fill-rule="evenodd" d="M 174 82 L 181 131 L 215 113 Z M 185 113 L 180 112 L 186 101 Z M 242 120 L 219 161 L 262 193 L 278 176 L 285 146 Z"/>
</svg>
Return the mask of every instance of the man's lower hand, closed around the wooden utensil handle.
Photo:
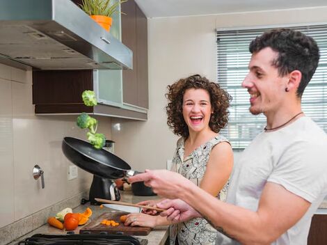
<svg viewBox="0 0 327 245">
<path fill-rule="evenodd" d="M 157 203 L 157 207 L 167 210 L 165 212 L 161 212 L 160 215 L 167 216 L 168 221 L 172 221 L 173 223 L 179 223 L 188 221 L 192 218 L 201 217 L 201 215 L 196 212 L 193 207 L 180 199 L 163 200 L 160 203 Z"/>
</svg>

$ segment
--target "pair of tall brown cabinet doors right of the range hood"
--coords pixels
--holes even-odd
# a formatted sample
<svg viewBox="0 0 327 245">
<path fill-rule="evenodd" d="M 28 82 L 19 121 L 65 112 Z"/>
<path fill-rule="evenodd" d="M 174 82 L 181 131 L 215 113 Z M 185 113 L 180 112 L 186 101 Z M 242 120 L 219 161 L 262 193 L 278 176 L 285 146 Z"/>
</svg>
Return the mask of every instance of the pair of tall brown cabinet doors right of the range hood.
<svg viewBox="0 0 327 245">
<path fill-rule="evenodd" d="M 123 102 L 148 109 L 147 18 L 134 0 L 123 3 L 122 12 L 122 43 L 133 52 L 133 70 L 122 71 Z"/>
</svg>

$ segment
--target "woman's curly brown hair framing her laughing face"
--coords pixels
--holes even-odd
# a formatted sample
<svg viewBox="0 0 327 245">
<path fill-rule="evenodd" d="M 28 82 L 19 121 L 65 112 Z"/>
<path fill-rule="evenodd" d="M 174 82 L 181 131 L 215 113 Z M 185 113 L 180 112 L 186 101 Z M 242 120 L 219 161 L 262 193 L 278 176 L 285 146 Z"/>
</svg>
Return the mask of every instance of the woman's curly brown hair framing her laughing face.
<svg viewBox="0 0 327 245">
<path fill-rule="evenodd" d="M 218 133 L 228 122 L 228 107 L 232 97 L 218 84 L 209 81 L 199 74 L 195 74 L 185 79 L 180 79 L 174 84 L 169 85 L 166 98 L 167 124 L 173 129 L 174 134 L 184 137 L 189 136 L 189 128 L 183 117 L 183 96 L 189 88 L 202 88 L 209 93 L 212 106 L 212 116 L 209 120 L 209 127 L 212 131 Z"/>
</svg>

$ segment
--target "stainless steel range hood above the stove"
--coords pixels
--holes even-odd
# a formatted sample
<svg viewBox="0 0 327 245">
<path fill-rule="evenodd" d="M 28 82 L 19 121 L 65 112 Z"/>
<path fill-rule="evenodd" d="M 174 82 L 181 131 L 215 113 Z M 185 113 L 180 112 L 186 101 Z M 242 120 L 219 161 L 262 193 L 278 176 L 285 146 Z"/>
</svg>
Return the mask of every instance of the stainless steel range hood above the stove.
<svg viewBox="0 0 327 245">
<path fill-rule="evenodd" d="M 132 68 L 132 52 L 70 0 L 1 0 L 0 62 L 18 68 Z"/>
</svg>

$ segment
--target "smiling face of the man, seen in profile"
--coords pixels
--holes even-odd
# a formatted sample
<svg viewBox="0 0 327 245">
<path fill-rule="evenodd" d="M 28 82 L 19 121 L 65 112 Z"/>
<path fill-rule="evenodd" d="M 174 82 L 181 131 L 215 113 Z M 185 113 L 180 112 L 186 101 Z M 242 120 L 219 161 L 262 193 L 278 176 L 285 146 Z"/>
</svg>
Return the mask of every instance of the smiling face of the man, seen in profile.
<svg viewBox="0 0 327 245">
<path fill-rule="evenodd" d="M 280 77 L 278 69 L 272 65 L 278 57 L 270 47 L 254 53 L 248 64 L 248 75 L 242 87 L 250 94 L 250 113 L 257 115 L 274 113 L 280 108 L 285 98 L 288 78 Z"/>
</svg>

